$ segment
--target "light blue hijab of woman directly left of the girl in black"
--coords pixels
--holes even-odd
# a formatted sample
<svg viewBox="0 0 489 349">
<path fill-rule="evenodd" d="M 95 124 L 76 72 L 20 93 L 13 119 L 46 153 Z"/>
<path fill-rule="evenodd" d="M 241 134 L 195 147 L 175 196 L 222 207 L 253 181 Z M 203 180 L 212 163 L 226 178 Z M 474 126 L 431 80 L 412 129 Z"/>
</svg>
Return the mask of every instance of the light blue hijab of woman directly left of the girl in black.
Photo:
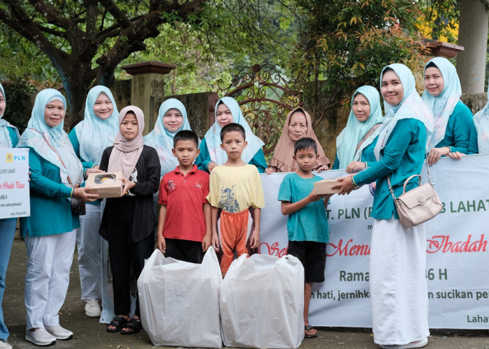
<svg viewBox="0 0 489 349">
<path fill-rule="evenodd" d="M 107 119 L 98 119 L 94 112 L 94 105 L 100 94 L 108 96 L 114 107 Z M 100 163 L 104 149 L 114 143 L 115 136 L 119 133 L 119 112 L 108 87 L 98 85 L 88 91 L 85 119 L 75 126 L 75 132 L 80 143 L 80 157 L 85 161 Z"/>
</svg>

